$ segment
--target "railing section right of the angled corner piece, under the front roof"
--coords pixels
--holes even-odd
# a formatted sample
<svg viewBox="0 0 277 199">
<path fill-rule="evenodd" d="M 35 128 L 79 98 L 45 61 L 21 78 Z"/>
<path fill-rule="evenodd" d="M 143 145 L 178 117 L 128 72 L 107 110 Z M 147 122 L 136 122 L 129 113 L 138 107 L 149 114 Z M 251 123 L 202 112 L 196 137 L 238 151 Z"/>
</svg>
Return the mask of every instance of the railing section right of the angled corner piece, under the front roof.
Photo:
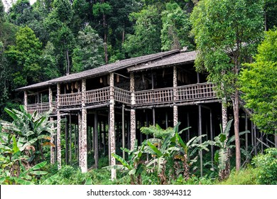
<svg viewBox="0 0 277 199">
<path fill-rule="evenodd" d="M 173 102 L 173 87 L 135 92 L 136 105 Z"/>
</svg>

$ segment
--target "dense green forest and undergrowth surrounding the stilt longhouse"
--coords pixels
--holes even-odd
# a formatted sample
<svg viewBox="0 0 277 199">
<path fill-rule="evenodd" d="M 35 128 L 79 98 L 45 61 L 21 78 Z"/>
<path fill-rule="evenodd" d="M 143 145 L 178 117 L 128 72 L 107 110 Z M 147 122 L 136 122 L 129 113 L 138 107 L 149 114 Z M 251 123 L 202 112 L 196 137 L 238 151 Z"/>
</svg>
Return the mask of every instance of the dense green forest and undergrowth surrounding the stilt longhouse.
<svg viewBox="0 0 277 199">
<path fill-rule="evenodd" d="M 237 122 L 242 93 L 256 127 L 277 137 L 276 14 L 276 0 L 37 0 L 32 5 L 29 0 L 1 0 L 0 183 L 276 184 L 276 148 L 249 157 L 239 148 L 238 136 L 246 132 L 238 131 Z M 58 170 L 50 165 L 51 143 L 45 141 L 45 132 L 53 131 L 49 113 L 26 112 L 17 88 L 184 47 L 198 51 L 196 70 L 209 74 L 208 80 L 219 85 L 218 96 L 234 109 L 234 121 L 214 141 L 199 144 L 195 137 L 185 142 L 178 125 L 142 127 L 158 143 L 122 149 L 129 161 L 113 154 L 120 166 L 108 166 L 106 158 L 87 173 L 77 166 Z M 229 137 L 232 122 L 234 136 Z M 209 169 L 200 176 L 197 153 L 210 145 L 218 147 L 216 166 L 210 168 L 206 161 Z M 24 154 L 28 146 L 39 150 Z M 146 156 L 156 158 L 143 164 Z M 111 169 L 119 170 L 114 181 L 109 179 Z"/>
</svg>

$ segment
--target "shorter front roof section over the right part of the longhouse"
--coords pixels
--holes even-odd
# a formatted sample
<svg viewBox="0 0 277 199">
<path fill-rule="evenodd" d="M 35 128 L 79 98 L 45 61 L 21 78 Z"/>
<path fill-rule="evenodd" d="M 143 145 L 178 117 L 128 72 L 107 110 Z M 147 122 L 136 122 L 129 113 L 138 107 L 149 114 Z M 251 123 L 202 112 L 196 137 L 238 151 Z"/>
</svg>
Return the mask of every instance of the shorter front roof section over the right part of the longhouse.
<svg viewBox="0 0 277 199">
<path fill-rule="evenodd" d="M 156 62 L 153 62 L 151 64 L 144 64 L 144 65 L 134 65 L 130 68 L 128 68 L 128 71 L 138 71 L 138 70 L 148 70 L 153 68 L 161 68 L 166 67 L 170 65 L 180 65 L 184 63 L 191 63 L 195 60 L 197 55 L 196 51 L 187 52 L 187 53 L 179 53 L 176 55 L 172 55 L 168 58 L 158 60 Z"/>
</svg>

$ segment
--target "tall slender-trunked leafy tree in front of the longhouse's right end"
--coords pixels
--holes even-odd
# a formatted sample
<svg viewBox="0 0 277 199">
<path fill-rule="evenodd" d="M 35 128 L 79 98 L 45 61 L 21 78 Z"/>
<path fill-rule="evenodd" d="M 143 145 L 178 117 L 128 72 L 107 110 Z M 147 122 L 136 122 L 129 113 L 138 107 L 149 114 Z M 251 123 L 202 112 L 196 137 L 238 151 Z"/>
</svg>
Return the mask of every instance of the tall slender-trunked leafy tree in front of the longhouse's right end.
<svg viewBox="0 0 277 199">
<path fill-rule="evenodd" d="M 264 28 L 263 1 L 202 0 L 192 11 L 192 33 L 197 44 L 196 68 L 207 70 L 220 97 L 232 98 L 236 169 L 240 167 L 239 87 L 241 63 L 254 54 Z M 234 96 L 234 97 L 232 97 Z"/>
</svg>

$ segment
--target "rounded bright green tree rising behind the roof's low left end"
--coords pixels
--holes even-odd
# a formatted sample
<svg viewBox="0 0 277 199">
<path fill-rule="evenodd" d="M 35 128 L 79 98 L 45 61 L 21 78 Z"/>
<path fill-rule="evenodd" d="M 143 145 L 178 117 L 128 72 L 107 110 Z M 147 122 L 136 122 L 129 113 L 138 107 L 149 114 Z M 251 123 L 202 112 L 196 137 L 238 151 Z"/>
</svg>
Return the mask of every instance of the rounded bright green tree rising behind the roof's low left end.
<svg viewBox="0 0 277 199">
<path fill-rule="evenodd" d="M 16 33 L 16 45 L 6 50 L 9 62 L 13 65 L 13 83 L 21 87 L 39 82 L 41 67 L 39 64 L 41 43 L 28 26 L 19 28 Z"/>
</svg>

